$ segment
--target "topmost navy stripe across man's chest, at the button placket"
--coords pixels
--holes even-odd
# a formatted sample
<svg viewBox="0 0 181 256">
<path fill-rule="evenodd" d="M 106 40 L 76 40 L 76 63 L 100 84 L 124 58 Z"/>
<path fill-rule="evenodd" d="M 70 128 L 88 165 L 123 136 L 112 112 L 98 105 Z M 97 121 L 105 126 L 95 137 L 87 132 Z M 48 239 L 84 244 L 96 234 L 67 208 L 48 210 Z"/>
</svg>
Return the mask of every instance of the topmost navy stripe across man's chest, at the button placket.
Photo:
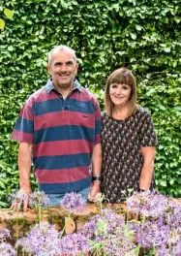
<svg viewBox="0 0 181 256">
<path fill-rule="evenodd" d="M 68 110 L 70 112 L 94 113 L 95 106 L 91 101 L 79 101 L 75 99 L 52 99 L 45 102 L 36 102 L 32 106 L 35 115 L 41 115 L 48 112 L 60 112 Z"/>
</svg>

